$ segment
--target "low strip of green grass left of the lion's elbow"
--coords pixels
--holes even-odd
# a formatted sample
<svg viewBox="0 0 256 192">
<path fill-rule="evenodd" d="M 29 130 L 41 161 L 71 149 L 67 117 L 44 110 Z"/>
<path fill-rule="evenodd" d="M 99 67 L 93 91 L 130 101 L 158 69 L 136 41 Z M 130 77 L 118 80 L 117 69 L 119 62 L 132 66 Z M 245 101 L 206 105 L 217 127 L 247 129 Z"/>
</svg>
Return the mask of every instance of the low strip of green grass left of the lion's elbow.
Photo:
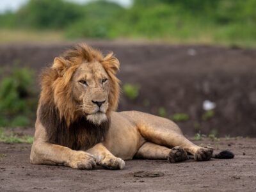
<svg viewBox="0 0 256 192">
<path fill-rule="evenodd" d="M 13 132 L 6 134 L 4 129 L 0 129 L 0 142 L 3 143 L 33 143 L 34 138 L 32 136 L 17 136 Z"/>
</svg>

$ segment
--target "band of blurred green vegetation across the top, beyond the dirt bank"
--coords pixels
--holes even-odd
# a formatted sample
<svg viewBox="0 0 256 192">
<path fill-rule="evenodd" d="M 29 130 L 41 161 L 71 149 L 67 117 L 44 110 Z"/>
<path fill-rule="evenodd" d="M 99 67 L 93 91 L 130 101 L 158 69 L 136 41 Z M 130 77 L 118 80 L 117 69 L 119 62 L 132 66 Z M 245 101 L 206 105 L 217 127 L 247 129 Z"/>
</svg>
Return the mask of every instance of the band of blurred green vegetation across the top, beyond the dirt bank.
<svg viewBox="0 0 256 192">
<path fill-rule="evenodd" d="M 92 1 L 31 0 L 0 15 L 2 29 L 64 31 L 65 38 L 142 38 L 255 46 L 255 0 L 134 0 L 131 8 Z"/>
</svg>

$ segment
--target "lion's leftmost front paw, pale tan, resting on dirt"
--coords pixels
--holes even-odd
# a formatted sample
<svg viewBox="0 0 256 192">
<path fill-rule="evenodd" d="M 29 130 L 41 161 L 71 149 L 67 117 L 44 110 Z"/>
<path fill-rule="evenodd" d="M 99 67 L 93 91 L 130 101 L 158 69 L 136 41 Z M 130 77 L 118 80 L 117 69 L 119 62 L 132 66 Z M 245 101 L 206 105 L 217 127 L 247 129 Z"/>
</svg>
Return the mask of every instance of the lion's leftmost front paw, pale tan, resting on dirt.
<svg viewBox="0 0 256 192">
<path fill-rule="evenodd" d="M 96 166 L 95 157 L 83 151 L 77 151 L 70 157 L 68 166 L 79 170 L 92 170 Z"/>
</svg>

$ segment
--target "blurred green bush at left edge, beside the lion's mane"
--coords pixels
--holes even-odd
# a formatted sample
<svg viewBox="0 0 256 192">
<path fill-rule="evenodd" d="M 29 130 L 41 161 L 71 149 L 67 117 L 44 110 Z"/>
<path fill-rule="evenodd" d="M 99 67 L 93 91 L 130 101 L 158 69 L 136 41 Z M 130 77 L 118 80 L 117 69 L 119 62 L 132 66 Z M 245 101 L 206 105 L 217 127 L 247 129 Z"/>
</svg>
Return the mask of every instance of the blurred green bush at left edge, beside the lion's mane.
<svg viewBox="0 0 256 192">
<path fill-rule="evenodd" d="M 34 79 L 29 68 L 14 67 L 10 73 L 1 70 L 0 127 L 31 125 L 37 103 Z"/>
</svg>

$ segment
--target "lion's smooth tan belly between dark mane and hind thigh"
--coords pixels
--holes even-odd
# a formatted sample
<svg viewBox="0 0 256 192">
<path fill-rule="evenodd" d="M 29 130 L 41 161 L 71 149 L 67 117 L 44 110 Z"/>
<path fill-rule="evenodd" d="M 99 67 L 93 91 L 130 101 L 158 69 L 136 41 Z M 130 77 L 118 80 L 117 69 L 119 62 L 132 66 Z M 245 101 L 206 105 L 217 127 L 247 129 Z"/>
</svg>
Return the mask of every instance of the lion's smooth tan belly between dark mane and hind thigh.
<svg viewBox="0 0 256 192">
<path fill-rule="evenodd" d="M 132 159 L 145 140 L 138 129 L 124 116 L 113 112 L 104 145 L 116 157 Z"/>
</svg>

